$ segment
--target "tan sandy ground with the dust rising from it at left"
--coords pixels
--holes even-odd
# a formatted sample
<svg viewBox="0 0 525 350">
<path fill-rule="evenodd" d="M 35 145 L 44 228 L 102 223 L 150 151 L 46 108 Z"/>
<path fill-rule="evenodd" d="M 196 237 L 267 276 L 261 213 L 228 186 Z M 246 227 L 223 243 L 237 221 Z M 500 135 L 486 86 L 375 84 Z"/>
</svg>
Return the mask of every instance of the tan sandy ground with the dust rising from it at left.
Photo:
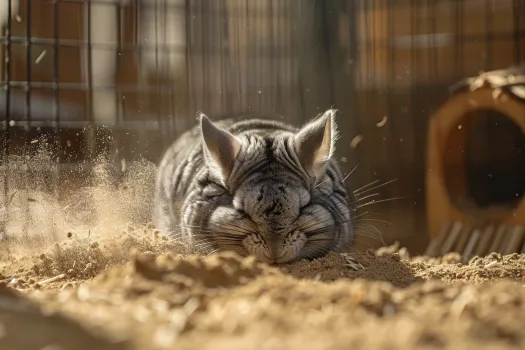
<svg viewBox="0 0 525 350">
<path fill-rule="evenodd" d="M 137 223 L 154 171 L 137 169 L 140 181 L 67 204 L 17 192 L 20 234 L 0 247 L 0 349 L 525 348 L 523 255 L 462 265 L 391 248 L 279 267 L 191 255 Z"/>
</svg>

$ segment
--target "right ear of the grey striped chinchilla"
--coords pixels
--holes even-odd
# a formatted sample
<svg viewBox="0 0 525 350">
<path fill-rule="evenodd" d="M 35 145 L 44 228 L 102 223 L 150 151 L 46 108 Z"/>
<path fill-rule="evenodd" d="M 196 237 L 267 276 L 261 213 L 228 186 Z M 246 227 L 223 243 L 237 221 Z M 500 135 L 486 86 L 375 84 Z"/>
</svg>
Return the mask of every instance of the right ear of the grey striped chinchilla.
<svg viewBox="0 0 525 350">
<path fill-rule="evenodd" d="M 335 151 L 337 125 L 334 109 L 309 122 L 294 136 L 295 152 L 303 169 L 312 177 L 320 178 L 326 162 Z"/>
</svg>

